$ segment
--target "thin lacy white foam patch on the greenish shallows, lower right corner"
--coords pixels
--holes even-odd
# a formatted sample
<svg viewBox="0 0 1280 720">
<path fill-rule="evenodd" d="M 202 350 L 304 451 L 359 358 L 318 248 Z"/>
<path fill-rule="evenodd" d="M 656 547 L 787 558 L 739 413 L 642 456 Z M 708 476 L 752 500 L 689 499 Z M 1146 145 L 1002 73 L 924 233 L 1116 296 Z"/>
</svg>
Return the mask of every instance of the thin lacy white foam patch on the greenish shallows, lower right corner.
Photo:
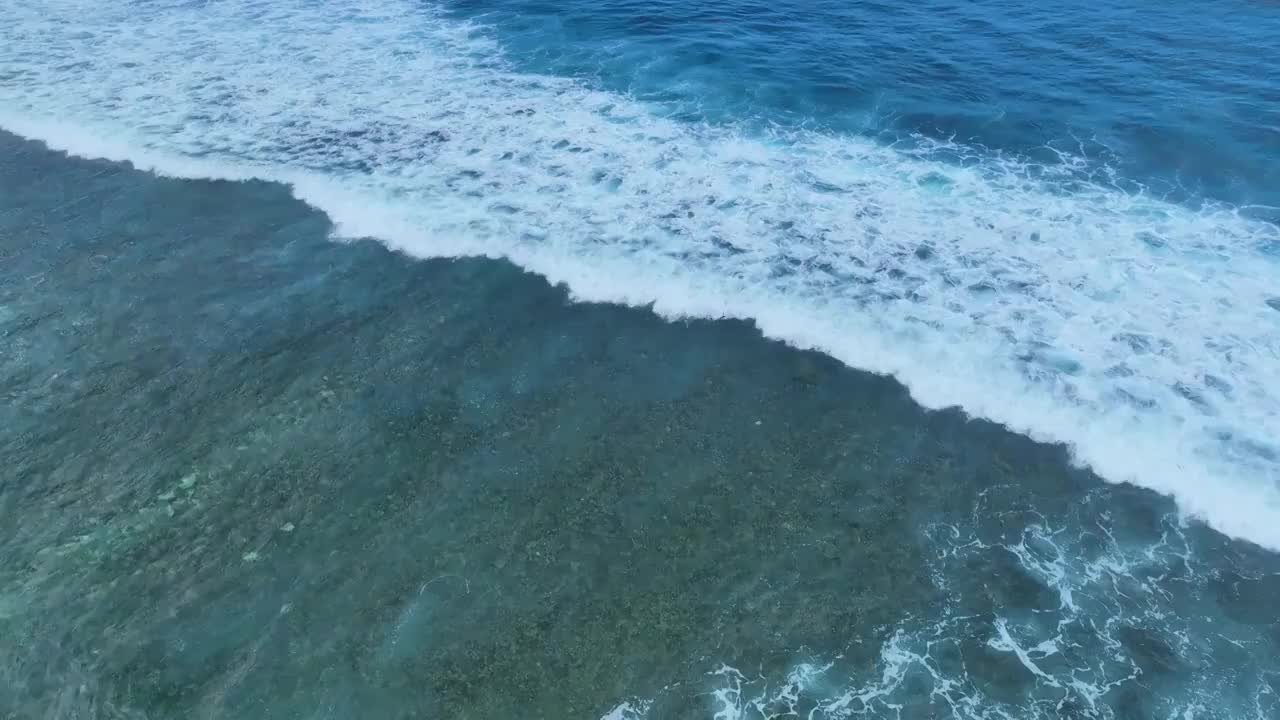
<svg viewBox="0 0 1280 720">
<path fill-rule="evenodd" d="M 763 674 L 721 664 L 696 696 L 708 698 L 704 716 L 1112 720 L 1126 716 L 1135 694 L 1153 717 L 1276 716 L 1280 702 L 1265 670 L 1274 652 L 1256 626 L 1216 606 L 1211 588 L 1221 559 L 1193 556 L 1175 518 L 1161 519 L 1155 542 L 1130 543 L 1111 537 L 1110 521 L 1091 524 L 1085 515 L 1082 509 L 1062 528 L 932 528 L 931 570 L 945 600 L 928 616 L 887 629 L 872 662 L 837 655 Z M 992 607 L 992 575 L 965 575 L 1001 556 L 1062 602 Z M 1196 598 L 1190 606 L 1188 598 Z M 1161 684 L 1161 674 L 1176 675 L 1176 685 Z M 663 688 L 649 706 L 669 696 Z"/>
</svg>

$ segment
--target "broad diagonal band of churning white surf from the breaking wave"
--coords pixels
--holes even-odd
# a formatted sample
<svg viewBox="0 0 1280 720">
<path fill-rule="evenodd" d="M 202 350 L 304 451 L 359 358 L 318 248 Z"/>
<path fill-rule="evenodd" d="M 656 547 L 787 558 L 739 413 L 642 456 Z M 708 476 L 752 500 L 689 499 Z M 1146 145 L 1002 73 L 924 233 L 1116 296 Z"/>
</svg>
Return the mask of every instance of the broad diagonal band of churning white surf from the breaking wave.
<svg viewBox="0 0 1280 720">
<path fill-rule="evenodd" d="M 579 300 L 750 319 L 1280 548 L 1280 229 L 1230 208 L 1073 159 L 672 122 L 399 0 L 8 4 L 0 124 L 289 183 L 344 236 Z"/>
</svg>

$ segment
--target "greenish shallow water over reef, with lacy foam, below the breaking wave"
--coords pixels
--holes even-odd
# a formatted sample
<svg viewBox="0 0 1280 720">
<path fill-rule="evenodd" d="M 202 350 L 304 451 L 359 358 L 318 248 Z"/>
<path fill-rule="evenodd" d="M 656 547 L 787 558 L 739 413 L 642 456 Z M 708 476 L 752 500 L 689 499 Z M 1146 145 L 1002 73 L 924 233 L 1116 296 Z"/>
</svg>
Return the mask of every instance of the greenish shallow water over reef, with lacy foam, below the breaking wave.
<svg viewBox="0 0 1280 720">
<path fill-rule="evenodd" d="M 896 382 L 3 137 L 5 717 L 1271 717 L 1275 555 Z"/>
</svg>

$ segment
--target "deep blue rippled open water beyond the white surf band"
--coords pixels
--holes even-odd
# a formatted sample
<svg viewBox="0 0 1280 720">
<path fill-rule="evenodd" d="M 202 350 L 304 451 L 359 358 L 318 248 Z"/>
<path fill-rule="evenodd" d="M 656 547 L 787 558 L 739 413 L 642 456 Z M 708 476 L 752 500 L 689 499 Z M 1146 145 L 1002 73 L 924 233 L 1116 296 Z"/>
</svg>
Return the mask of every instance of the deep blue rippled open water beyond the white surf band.
<svg viewBox="0 0 1280 720">
<path fill-rule="evenodd" d="M 449 3 L 520 67 L 689 119 L 948 138 L 1181 201 L 1280 206 L 1268 3 Z M 1274 63 L 1274 61 L 1272 61 Z"/>
</svg>

